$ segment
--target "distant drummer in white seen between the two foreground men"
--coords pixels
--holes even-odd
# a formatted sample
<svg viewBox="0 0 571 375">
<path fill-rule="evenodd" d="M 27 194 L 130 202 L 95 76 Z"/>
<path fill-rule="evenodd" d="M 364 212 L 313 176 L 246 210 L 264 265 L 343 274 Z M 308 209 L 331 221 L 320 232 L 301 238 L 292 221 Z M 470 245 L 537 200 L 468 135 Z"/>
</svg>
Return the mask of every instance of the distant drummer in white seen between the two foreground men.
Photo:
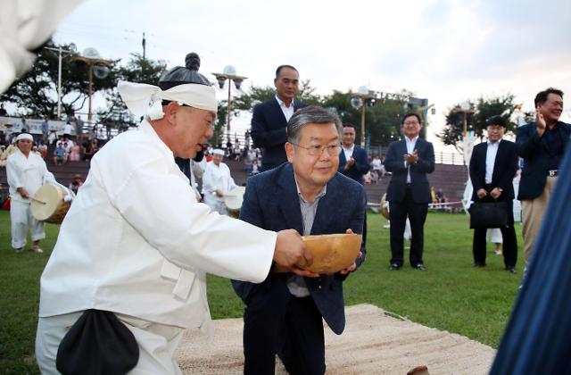
<svg viewBox="0 0 571 375">
<path fill-rule="evenodd" d="M 212 152 L 212 160 L 206 164 L 203 174 L 203 195 L 204 203 L 208 204 L 212 211 L 228 215 L 224 196 L 236 187 L 236 183 L 230 175 L 228 165 L 222 162 L 223 158 L 224 151 L 216 149 Z"/>
</svg>

